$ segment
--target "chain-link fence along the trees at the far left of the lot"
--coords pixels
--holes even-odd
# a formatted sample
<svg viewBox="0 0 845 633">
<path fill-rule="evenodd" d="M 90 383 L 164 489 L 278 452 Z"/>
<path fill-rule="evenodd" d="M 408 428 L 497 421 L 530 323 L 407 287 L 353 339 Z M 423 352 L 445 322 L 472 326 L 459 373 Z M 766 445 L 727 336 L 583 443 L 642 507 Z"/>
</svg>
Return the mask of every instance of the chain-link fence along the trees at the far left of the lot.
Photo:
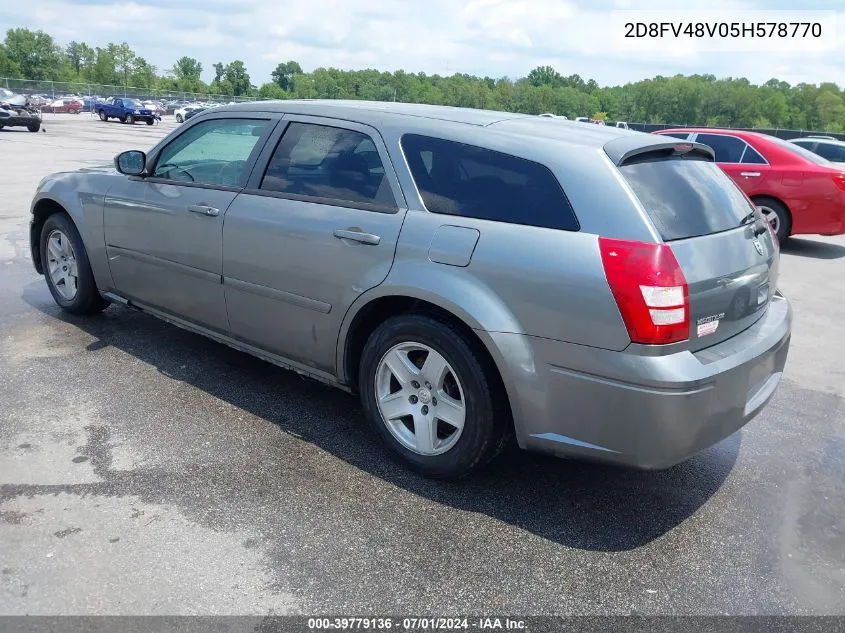
<svg viewBox="0 0 845 633">
<path fill-rule="evenodd" d="M 202 101 L 208 103 L 230 103 L 232 101 L 254 101 L 257 97 L 221 95 L 210 92 L 184 92 L 181 90 L 158 90 L 136 86 L 115 86 L 109 84 L 74 83 L 66 81 L 35 81 L 0 77 L 0 86 L 12 92 L 27 96 L 40 95 L 52 100 L 62 97 L 107 99 L 108 97 L 132 97 L 141 101 Z"/>
</svg>

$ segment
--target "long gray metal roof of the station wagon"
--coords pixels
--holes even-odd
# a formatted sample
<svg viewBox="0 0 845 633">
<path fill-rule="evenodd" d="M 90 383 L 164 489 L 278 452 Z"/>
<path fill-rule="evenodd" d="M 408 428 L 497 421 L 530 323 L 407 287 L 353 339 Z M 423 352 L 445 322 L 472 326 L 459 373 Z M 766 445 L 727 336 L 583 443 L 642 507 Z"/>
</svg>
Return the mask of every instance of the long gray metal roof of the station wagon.
<svg viewBox="0 0 845 633">
<path fill-rule="evenodd" d="M 641 132 L 600 125 L 582 125 L 563 117 L 542 117 L 496 110 L 478 110 L 422 103 L 358 101 L 344 99 L 304 99 L 284 101 L 252 101 L 218 106 L 215 112 L 278 112 L 324 116 L 357 121 L 379 127 L 385 123 L 401 123 L 413 119 L 415 128 L 431 132 L 454 125 L 487 127 L 498 133 L 532 137 L 543 141 L 565 141 L 577 145 L 604 147 L 622 140 L 626 148 L 659 144 L 655 137 Z M 665 144 L 665 143 L 663 143 Z M 627 151 L 627 150 L 626 150 Z"/>
</svg>

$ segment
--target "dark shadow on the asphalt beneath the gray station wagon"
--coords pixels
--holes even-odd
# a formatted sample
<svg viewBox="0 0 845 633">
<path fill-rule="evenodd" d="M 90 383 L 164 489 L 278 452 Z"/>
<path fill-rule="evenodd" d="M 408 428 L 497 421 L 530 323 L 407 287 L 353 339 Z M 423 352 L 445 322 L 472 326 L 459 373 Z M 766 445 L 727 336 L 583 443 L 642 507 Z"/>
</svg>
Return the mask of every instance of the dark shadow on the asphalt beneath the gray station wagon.
<svg viewBox="0 0 845 633">
<path fill-rule="evenodd" d="M 432 481 L 391 459 L 367 427 L 358 401 L 338 389 L 123 306 L 111 306 L 94 317 L 68 315 L 53 304 L 40 280 L 27 284 L 23 298 L 45 315 L 93 337 L 95 341 L 84 352 L 119 349 L 173 380 L 267 420 L 414 495 L 485 514 L 571 548 L 624 551 L 669 532 L 720 489 L 741 445 L 737 433 L 658 472 L 562 460 L 511 448 L 481 472 L 459 481 Z M 233 376 L 237 376 L 237 387 L 232 384 Z M 296 414 L 303 409 L 314 415 Z M 313 424 L 315 417 L 319 425 Z M 273 485 L 255 483 L 257 487 Z"/>
</svg>

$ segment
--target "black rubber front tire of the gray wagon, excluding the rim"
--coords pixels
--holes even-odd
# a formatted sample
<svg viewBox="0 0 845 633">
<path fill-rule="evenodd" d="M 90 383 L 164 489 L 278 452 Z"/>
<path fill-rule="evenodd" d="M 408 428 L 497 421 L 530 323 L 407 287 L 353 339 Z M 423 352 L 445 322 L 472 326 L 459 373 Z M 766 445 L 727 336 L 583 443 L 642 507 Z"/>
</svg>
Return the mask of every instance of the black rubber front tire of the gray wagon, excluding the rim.
<svg viewBox="0 0 845 633">
<path fill-rule="evenodd" d="M 56 229 L 68 237 L 76 255 L 78 272 L 77 291 L 76 296 L 71 300 L 65 299 L 56 289 L 48 268 L 47 238 Z M 109 302 L 97 290 L 97 284 L 94 282 L 94 274 L 91 272 L 91 264 L 88 261 L 88 253 L 85 250 L 85 245 L 82 243 L 82 237 L 80 237 L 79 231 L 76 230 L 76 225 L 66 213 L 54 213 L 47 218 L 41 229 L 40 240 L 41 263 L 44 270 L 44 277 L 47 280 L 47 287 L 50 289 L 53 299 L 62 310 L 71 314 L 96 314 L 109 305 Z"/>
</svg>

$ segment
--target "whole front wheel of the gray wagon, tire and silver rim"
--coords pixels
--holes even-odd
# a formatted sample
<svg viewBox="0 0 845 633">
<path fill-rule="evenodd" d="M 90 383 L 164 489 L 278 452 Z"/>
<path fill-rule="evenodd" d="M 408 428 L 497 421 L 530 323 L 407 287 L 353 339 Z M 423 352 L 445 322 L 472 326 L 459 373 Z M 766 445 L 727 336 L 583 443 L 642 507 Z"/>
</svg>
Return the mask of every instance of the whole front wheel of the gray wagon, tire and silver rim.
<svg viewBox="0 0 845 633">
<path fill-rule="evenodd" d="M 94 314 L 109 305 L 97 290 L 79 231 L 66 214 L 47 218 L 40 244 L 47 287 L 60 308 L 72 314 Z"/>
</svg>

